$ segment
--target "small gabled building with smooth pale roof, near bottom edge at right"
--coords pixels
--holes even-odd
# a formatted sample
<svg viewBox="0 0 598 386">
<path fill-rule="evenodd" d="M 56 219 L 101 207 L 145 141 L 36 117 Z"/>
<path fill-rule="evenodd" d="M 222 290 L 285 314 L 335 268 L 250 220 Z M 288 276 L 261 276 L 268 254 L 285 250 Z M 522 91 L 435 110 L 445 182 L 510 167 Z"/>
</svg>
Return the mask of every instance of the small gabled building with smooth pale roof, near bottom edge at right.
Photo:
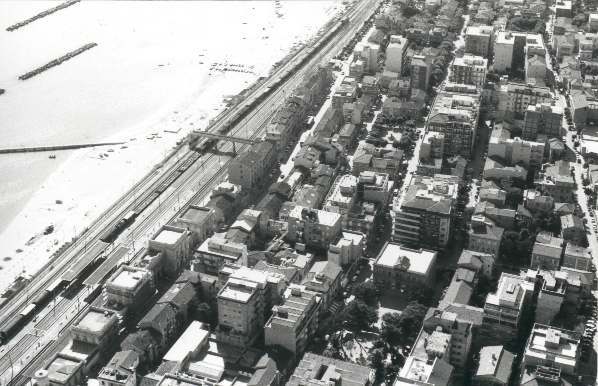
<svg viewBox="0 0 598 386">
<path fill-rule="evenodd" d="M 515 355 L 503 346 L 485 346 L 473 376 L 474 386 L 507 386 L 513 372 Z"/>
</svg>

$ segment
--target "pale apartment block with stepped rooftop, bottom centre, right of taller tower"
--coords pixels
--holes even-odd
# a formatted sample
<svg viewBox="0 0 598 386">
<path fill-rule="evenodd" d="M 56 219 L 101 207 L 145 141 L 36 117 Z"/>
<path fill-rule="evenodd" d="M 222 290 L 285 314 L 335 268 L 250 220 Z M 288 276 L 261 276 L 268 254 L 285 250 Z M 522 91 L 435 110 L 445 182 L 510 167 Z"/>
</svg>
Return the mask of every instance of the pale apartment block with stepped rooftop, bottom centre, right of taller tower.
<svg viewBox="0 0 598 386">
<path fill-rule="evenodd" d="M 264 326 L 266 346 L 280 346 L 300 357 L 317 331 L 319 313 L 318 292 L 290 286 Z"/>
</svg>

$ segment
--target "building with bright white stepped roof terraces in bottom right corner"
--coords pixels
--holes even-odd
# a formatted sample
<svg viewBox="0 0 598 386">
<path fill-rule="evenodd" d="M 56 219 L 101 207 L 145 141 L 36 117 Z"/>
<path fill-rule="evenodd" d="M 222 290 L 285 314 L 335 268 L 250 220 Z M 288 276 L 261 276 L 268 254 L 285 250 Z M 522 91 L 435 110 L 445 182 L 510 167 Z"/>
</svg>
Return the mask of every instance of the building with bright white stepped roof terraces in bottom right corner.
<svg viewBox="0 0 598 386">
<path fill-rule="evenodd" d="M 577 375 L 580 333 L 534 324 L 523 353 L 523 366 L 547 366 Z"/>
</svg>

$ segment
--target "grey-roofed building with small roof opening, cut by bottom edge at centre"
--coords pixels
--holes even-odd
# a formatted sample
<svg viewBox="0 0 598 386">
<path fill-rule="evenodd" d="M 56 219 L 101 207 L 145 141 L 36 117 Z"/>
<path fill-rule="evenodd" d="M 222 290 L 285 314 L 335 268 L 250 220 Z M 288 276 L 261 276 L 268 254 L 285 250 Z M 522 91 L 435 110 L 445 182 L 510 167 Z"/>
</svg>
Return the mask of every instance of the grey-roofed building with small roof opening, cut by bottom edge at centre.
<svg viewBox="0 0 598 386">
<path fill-rule="evenodd" d="M 374 371 L 366 366 L 305 353 L 291 375 L 287 386 L 330 384 L 369 386 L 374 381 Z"/>
</svg>

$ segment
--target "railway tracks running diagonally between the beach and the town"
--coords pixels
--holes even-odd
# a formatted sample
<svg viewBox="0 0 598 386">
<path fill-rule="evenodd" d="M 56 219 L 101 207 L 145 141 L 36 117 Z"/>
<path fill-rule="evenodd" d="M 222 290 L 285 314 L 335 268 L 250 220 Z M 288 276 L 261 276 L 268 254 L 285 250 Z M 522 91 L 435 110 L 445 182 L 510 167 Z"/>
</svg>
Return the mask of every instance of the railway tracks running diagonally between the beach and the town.
<svg viewBox="0 0 598 386">
<path fill-rule="evenodd" d="M 366 8 L 372 7 L 373 10 L 373 5 L 377 4 L 377 2 L 377 0 L 363 1 L 355 7 L 351 11 L 351 15 L 348 16 L 349 22 L 345 22 L 343 26 L 343 28 L 346 27 L 348 31 L 343 34 L 335 34 L 332 38 L 328 39 L 324 46 L 310 57 L 308 63 L 302 63 L 299 69 L 286 77 L 283 84 L 280 84 L 277 89 L 270 91 L 268 95 L 259 102 L 256 108 L 244 113 L 243 117 L 238 119 L 238 121 L 231 127 L 229 134 L 238 135 L 247 130 L 251 133 L 250 139 L 255 139 L 261 136 L 270 117 L 276 111 L 276 108 L 284 102 L 285 95 L 290 95 L 290 92 L 303 81 L 306 74 L 309 74 L 319 63 L 332 58 L 337 51 L 336 49 L 339 48 L 340 45 L 346 44 L 346 42 L 351 39 L 357 28 L 361 26 L 360 22 L 355 25 L 351 25 L 351 23 L 360 20 L 359 18 L 366 20 L 367 17 L 364 17 Z M 284 68 L 284 66 L 282 68 Z M 262 87 L 268 87 L 266 84 L 267 82 L 264 83 Z M 224 125 L 229 124 L 226 122 L 226 119 L 221 119 L 219 122 L 220 123 L 216 123 L 213 126 L 214 130 L 218 130 L 219 128 L 224 127 Z M 248 145 L 242 145 L 240 151 L 243 151 L 247 146 Z M 230 143 L 224 143 L 221 146 L 222 151 L 229 151 L 231 149 L 232 144 Z M 93 282 L 95 285 L 99 285 L 98 283 L 102 279 L 102 275 L 97 274 L 97 271 L 84 272 L 85 268 L 90 266 L 95 268 L 99 264 L 94 264 L 104 261 L 104 258 L 111 252 L 117 249 L 126 249 L 124 244 L 127 243 L 127 238 L 130 239 L 133 246 L 131 249 L 134 251 L 135 243 L 145 242 L 146 239 L 155 233 L 156 227 L 159 228 L 162 224 L 175 218 L 177 214 L 185 208 L 185 205 L 181 205 L 181 202 L 197 203 L 203 199 L 213 187 L 217 185 L 217 183 L 224 179 L 226 170 L 231 161 L 232 158 L 228 158 L 222 163 L 220 156 L 211 153 L 199 154 L 197 152 L 187 152 L 186 154 L 183 154 L 177 162 L 167 166 L 164 171 L 156 173 L 156 176 L 153 176 L 154 178 L 150 179 L 151 182 L 145 182 L 145 184 L 140 183 L 138 187 L 147 186 L 149 188 L 147 194 L 140 194 L 139 192 L 132 190 L 132 192 L 125 195 L 122 200 L 123 202 L 120 203 L 120 210 L 110 208 L 108 212 L 112 213 L 112 218 L 110 220 L 100 219 L 98 223 L 101 225 L 94 226 L 92 231 L 88 232 L 88 240 L 81 243 L 83 245 L 79 244 L 77 246 L 78 248 L 74 247 L 67 253 L 68 256 L 76 256 L 77 252 L 83 250 L 82 256 L 80 256 L 79 259 L 75 259 L 74 264 L 67 257 L 60 259 L 60 261 L 54 265 L 54 268 L 39 281 L 37 287 L 44 291 L 50 289 L 50 295 L 56 296 L 62 289 L 69 285 L 72 286 L 75 282 L 81 284 L 88 275 L 94 277 L 94 274 L 96 277 L 99 277 L 99 279 L 94 278 Z M 177 174 L 176 178 L 171 177 L 173 173 Z M 165 181 L 168 181 L 168 186 L 163 185 Z M 155 193 L 158 189 L 161 191 L 156 196 Z M 152 199 L 152 196 L 156 197 Z M 140 210 L 140 208 L 143 208 L 143 210 Z M 111 229 L 122 219 L 122 217 L 119 216 L 122 216 L 123 213 L 135 210 L 140 211 L 129 224 L 127 233 L 119 233 L 112 243 L 105 243 L 100 240 L 102 233 L 105 233 L 106 229 Z M 121 254 L 126 254 L 127 251 L 128 250 L 123 252 L 121 250 Z M 110 264 L 118 264 L 118 261 L 120 260 L 120 258 L 114 259 Z M 108 261 L 104 261 L 104 263 L 108 263 Z M 105 265 L 106 264 L 102 264 L 100 266 L 102 267 Z M 109 271 L 111 267 L 105 266 L 104 269 Z M 82 273 L 83 275 L 81 275 Z M 87 283 L 87 285 L 94 285 L 94 283 Z M 57 311 L 56 314 L 64 314 L 67 312 L 72 308 L 73 302 L 80 301 L 81 297 L 75 296 L 75 298 L 70 300 L 66 298 L 62 299 L 63 300 L 59 301 L 59 309 L 55 310 Z M 21 306 L 24 306 L 25 303 L 26 301 L 21 299 Z M 19 310 L 18 304 L 13 304 L 11 309 L 13 310 L 11 317 L 13 317 L 16 313 L 14 310 Z M 4 318 L 4 323 L 6 323 L 6 320 L 7 318 Z M 62 327 L 61 330 L 66 329 L 73 320 L 74 319 L 70 319 L 68 324 Z M 46 314 L 35 326 L 45 328 L 41 328 L 41 330 L 38 328 L 36 331 L 44 332 L 49 327 L 55 325 L 56 321 L 57 319 L 55 319 L 55 317 Z M 15 336 L 15 339 L 22 339 L 25 335 L 27 335 L 27 332 L 22 331 L 21 334 Z M 49 338 L 54 339 L 56 337 L 48 336 L 43 342 L 40 341 L 39 344 L 42 349 L 47 349 L 48 346 L 46 345 L 46 341 Z M 10 337 L 5 337 L 5 340 L 10 340 Z M 10 348 L 10 350 L 13 348 Z M 47 352 L 49 353 L 49 351 Z M 20 355 L 24 356 L 24 354 L 25 353 L 21 353 Z M 35 357 L 39 360 L 39 352 L 30 354 L 27 357 Z M 4 357 L 0 357 L 0 370 L 6 367 L 5 362 Z M 15 380 L 21 379 L 21 373 L 26 371 L 28 367 L 29 366 L 26 364 L 18 374 L 11 374 L 11 379 L 13 379 L 13 376 Z M 2 384 L 2 380 L 5 379 L 5 373 L 6 371 L 0 371 L 0 384 Z"/>
</svg>

